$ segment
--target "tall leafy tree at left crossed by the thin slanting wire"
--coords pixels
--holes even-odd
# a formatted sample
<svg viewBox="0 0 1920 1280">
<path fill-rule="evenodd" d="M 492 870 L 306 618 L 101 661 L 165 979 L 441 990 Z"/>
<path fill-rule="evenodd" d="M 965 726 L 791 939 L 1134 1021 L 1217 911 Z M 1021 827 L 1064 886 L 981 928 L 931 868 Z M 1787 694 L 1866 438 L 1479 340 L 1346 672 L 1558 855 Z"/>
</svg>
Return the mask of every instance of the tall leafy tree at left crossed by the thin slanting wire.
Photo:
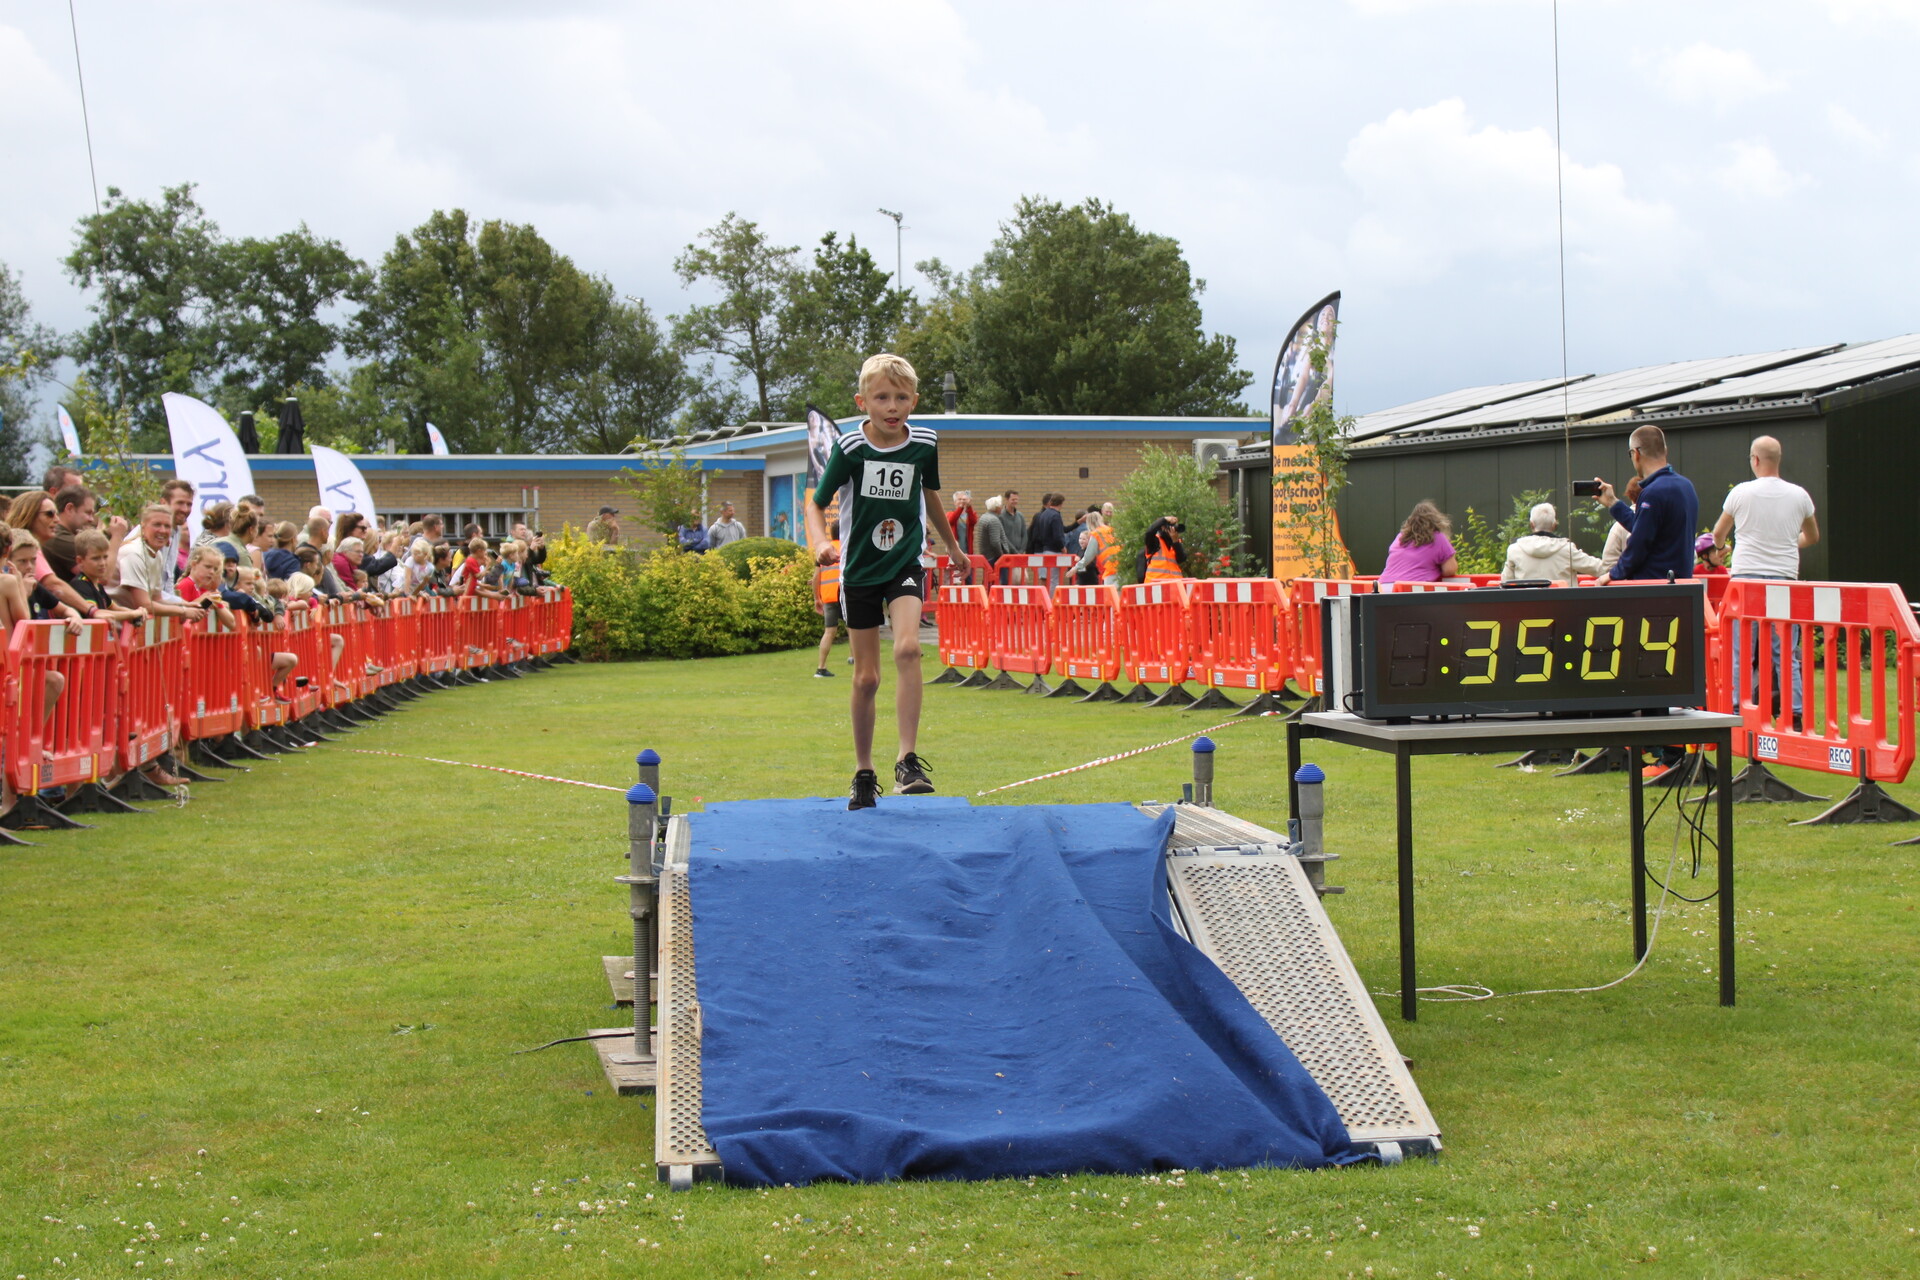
<svg viewBox="0 0 1920 1280">
<path fill-rule="evenodd" d="M 67 276 L 98 297 L 69 355 L 111 407 L 132 415 L 136 447 L 163 449 L 161 393 L 202 391 L 221 363 L 219 226 L 192 182 L 161 190 L 157 203 L 109 186 L 106 207 L 83 217 L 77 234 Z"/>
</svg>

